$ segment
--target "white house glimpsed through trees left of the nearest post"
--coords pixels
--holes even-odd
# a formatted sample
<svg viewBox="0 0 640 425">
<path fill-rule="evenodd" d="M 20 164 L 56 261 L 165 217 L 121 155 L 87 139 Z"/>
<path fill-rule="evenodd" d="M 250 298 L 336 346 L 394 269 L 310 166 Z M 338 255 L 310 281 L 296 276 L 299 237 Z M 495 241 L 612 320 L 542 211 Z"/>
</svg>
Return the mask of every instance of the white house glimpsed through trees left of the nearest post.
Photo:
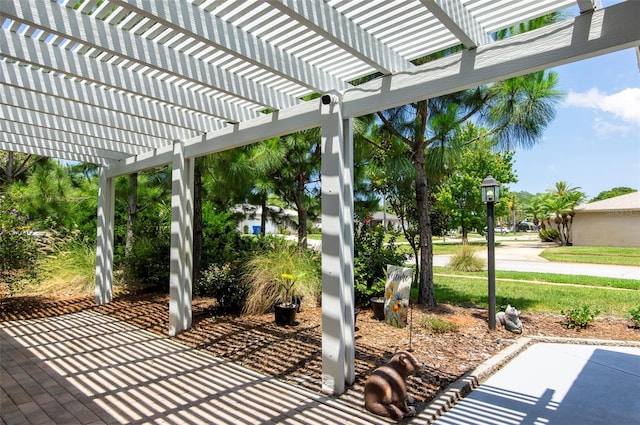
<svg viewBox="0 0 640 425">
<path fill-rule="evenodd" d="M 238 231 L 256 235 L 260 233 L 262 220 L 260 205 L 238 204 L 233 207 L 232 211 L 243 217 L 238 223 Z M 267 212 L 265 234 L 278 234 L 283 230 L 289 230 L 291 233 L 298 231 L 298 213 L 296 211 L 269 205 Z"/>
</svg>

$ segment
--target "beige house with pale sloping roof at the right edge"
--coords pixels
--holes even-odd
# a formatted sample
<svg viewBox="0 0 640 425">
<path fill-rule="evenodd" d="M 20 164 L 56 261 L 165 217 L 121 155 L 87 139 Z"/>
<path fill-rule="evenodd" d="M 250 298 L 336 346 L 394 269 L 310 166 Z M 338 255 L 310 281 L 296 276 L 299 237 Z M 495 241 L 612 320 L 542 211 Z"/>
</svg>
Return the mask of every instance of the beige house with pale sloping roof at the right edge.
<svg viewBox="0 0 640 425">
<path fill-rule="evenodd" d="M 573 245 L 640 248 L 640 192 L 579 205 L 574 211 Z"/>
</svg>

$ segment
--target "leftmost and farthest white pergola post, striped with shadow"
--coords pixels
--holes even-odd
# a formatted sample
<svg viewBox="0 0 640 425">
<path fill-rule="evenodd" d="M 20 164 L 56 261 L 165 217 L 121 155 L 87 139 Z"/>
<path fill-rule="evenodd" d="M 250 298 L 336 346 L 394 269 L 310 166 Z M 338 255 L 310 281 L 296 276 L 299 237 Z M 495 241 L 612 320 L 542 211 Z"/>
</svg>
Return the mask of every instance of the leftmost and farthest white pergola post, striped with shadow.
<svg viewBox="0 0 640 425">
<path fill-rule="evenodd" d="M 98 235 L 96 244 L 96 304 L 113 299 L 113 216 L 115 179 L 100 168 L 98 186 Z"/>
</svg>

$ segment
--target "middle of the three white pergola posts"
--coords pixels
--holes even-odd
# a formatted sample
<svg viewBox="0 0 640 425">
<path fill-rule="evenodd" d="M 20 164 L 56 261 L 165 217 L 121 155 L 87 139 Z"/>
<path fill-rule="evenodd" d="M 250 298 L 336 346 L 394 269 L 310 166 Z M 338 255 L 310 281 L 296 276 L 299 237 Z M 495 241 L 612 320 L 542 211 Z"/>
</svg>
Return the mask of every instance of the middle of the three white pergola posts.
<svg viewBox="0 0 640 425">
<path fill-rule="evenodd" d="M 173 143 L 171 172 L 171 253 L 169 276 L 169 335 L 191 327 L 193 269 L 193 162 L 184 144 Z"/>
</svg>

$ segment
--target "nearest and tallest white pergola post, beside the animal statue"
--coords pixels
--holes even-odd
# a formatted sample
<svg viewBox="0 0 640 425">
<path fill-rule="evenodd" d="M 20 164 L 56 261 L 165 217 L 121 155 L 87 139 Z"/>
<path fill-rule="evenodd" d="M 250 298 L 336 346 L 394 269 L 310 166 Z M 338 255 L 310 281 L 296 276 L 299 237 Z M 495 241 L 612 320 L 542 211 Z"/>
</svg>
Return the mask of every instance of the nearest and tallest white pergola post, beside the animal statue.
<svg viewBox="0 0 640 425">
<path fill-rule="evenodd" d="M 351 124 L 335 98 L 322 103 L 322 391 L 342 394 L 355 379 Z"/>
</svg>

